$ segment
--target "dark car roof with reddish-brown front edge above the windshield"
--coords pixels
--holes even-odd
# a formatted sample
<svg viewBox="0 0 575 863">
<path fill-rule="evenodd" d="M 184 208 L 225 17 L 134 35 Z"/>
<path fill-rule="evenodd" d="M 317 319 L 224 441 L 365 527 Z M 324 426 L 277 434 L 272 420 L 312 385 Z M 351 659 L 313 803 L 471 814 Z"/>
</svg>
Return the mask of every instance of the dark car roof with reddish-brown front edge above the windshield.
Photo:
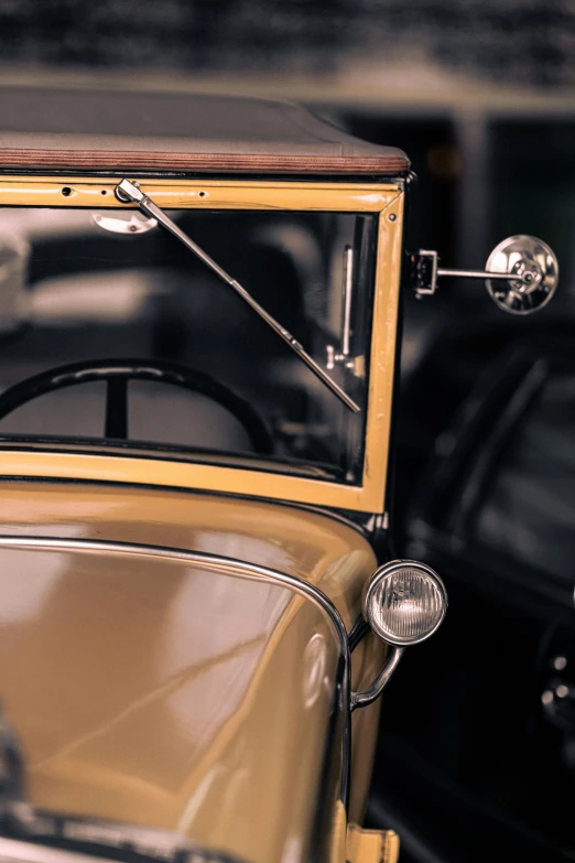
<svg viewBox="0 0 575 863">
<path fill-rule="evenodd" d="M 389 175 L 409 161 L 288 101 L 9 86 L 0 169 Z"/>
</svg>

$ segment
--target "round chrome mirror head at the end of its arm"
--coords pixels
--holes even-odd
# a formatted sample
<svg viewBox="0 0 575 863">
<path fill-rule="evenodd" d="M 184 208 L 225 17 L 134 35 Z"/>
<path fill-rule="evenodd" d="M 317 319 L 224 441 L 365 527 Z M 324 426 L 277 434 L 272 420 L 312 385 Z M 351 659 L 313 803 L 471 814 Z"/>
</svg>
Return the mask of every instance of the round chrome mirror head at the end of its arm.
<svg viewBox="0 0 575 863">
<path fill-rule="evenodd" d="M 558 263 L 546 242 L 524 234 L 508 237 L 487 259 L 486 270 L 509 273 L 486 279 L 487 291 L 503 312 L 532 314 L 549 303 L 558 282 Z"/>
</svg>

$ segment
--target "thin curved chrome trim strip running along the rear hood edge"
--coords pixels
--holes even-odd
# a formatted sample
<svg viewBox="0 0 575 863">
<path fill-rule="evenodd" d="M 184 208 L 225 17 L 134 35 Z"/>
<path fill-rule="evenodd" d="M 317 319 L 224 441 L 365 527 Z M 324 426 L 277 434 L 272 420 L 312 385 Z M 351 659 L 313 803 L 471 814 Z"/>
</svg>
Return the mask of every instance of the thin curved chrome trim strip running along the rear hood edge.
<svg viewBox="0 0 575 863">
<path fill-rule="evenodd" d="M 100 539 L 67 539 L 65 537 L 34 537 L 34 536 L 13 536 L 0 535 L 0 547 L 7 548 L 32 548 L 32 549 L 58 549 L 67 551 L 108 551 L 117 554 L 140 554 L 148 558 L 161 558 L 171 560 L 181 560 L 187 563 L 202 563 L 206 567 L 237 570 L 246 576 L 262 578 L 270 581 L 276 581 L 292 587 L 300 594 L 311 597 L 326 613 L 329 618 L 337 640 L 339 643 L 339 655 L 344 659 L 344 675 L 341 680 L 341 704 L 340 710 L 344 714 L 343 729 L 343 765 L 341 765 L 341 799 L 347 807 L 349 795 L 349 757 L 351 745 L 351 725 L 350 725 L 350 656 L 347 630 L 341 616 L 335 607 L 332 600 L 326 594 L 296 575 L 290 575 L 279 570 L 272 570 L 269 567 L 261 567 L 257 563 L 238 560 L 237 558 L 226 558 L 211 554 L 207 551 L 183 551 L 182 549 L 170 548 L 167 546 L 143 546 L 131 542 L 120 542 L 118 540 Z"/>
</svg>

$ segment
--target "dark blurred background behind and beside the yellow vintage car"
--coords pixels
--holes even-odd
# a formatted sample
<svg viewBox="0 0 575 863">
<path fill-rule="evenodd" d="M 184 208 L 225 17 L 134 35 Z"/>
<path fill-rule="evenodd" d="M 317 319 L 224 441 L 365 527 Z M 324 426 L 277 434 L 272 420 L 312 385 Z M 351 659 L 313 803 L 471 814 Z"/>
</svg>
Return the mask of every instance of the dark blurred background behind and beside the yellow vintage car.
<svg viewBox="0 0 575 863">
<path fill-rule="evenodd" d="M 386 693 L 368 819 L 406 862 L 575 860 L 575 4 L 0 0 L 0 85 L 37 84 L 302 101 L 406 151 L 411 249 L 554 249 L 533 317 L 405 295 L 393 553 L 451 612 Z"/>
</svg>

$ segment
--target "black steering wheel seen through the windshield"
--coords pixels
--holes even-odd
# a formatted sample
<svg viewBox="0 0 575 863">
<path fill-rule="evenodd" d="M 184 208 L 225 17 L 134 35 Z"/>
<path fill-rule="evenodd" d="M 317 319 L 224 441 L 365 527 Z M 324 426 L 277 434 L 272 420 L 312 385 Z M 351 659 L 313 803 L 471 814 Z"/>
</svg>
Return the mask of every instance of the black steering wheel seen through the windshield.
<svg viewBox="0 0 575 863">
<path fill-rule="evenodd" d="M 243 427 L 257 453 L 273 452 L 271 433 L 252 406 L 209 375 L 163 359 L 100 359 L 70 363 L 15 384 L 0 396 L 0 420 L 28 401 L 65 387 L 105 381 L 105 438 L 128 440 L 128 381 L 150 380 L 199 392 L 226 408 Z"/>
</svg>

